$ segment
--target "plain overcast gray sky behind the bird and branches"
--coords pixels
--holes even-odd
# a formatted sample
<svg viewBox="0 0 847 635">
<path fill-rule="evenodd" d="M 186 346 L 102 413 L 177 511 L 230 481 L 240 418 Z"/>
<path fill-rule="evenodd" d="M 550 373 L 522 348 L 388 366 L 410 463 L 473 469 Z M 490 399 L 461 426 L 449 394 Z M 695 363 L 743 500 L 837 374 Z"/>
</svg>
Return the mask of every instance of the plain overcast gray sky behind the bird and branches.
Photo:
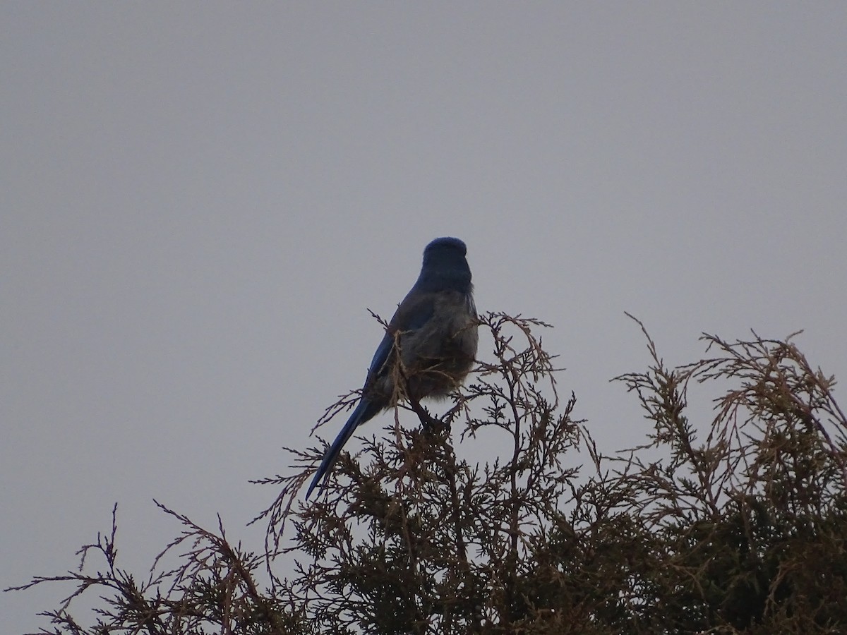
<svg viewBox="0 0 847 635">
<path fill-rule="evenodd" d="M 3 587 L 114 501 L 136 572 L 178 531 L 153 497 L 260 548 L 247 479 L 436 236 L 480 310 L 556 325 L 604 450 L 647 429 L 624 311 L 667 362 L 805 329 L 847 374 L 842 2 L 2 3 L 0 85 Z M 65 590 L 0 594 L 4 632 Z"/>
</svg>

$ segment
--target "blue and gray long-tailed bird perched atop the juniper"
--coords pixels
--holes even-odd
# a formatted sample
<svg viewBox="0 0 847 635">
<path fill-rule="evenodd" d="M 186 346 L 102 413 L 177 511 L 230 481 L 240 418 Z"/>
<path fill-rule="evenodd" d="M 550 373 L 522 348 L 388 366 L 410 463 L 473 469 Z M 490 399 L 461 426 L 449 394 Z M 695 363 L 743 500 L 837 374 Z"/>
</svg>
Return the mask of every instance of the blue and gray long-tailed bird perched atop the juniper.
<svg viewBox="0 0 847 635">
<path fill-rule="evenodd" d="M 324 453 L 306 499 L 329 478 L 356 428 L 404 398 L 414 406 L 443 398 L 470 372 L 479 335 L 467 253 L 465 243 L 452 237 L 436 238 L 424 249 L 418 280 L 391 317 L 357 406 Z"/>
</svg>

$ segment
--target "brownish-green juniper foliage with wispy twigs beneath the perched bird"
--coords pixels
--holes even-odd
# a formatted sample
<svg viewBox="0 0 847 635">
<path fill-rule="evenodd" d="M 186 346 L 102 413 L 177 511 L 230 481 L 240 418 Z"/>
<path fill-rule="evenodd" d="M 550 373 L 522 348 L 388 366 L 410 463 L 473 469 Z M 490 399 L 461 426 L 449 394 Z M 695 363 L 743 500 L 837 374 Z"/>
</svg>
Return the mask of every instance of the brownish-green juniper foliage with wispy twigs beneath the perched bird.
<svg viewBox="0 0 847 635">
<path fill-rule="evenodd" d="M 705 359 L 667 367 L 645 332 L 650 366 L 617 381 L 652 430 L 605 455 L 560 400 L 547 325 L 480 323 L 493 355 L 442 426 L 394 411 L 308 503 L 323 451 L 289 450 L 291 475 L 259 482 L 279 494 L 258 554 L 163 508 L 182 532 L 136 578 L 113 522 L 79 571 L 19 587 L 73 585 L 42 632 L 847 632 L 847 419 L 790 337 L 704 335 Z M 711 420 L 689 422 L 689 389 L 715 391 Z M 458 440 L 496 451 L 471 462 Z M 70 610 L 90 589 L 104 602 L 83 626 Z"/>
</svg>

